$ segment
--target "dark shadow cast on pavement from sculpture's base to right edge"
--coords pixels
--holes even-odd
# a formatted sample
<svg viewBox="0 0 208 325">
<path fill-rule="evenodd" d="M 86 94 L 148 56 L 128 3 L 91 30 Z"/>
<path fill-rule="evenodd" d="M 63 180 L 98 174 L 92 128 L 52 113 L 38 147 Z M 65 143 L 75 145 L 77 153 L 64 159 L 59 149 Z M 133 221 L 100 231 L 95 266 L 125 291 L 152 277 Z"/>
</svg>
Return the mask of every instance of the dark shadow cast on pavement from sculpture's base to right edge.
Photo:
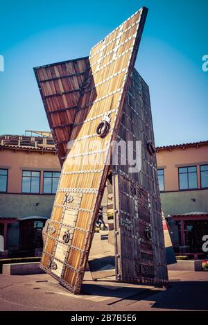
<svg viewBox="0 0 208 325">
<path fill-rule="evenodd" d="M 99 295 L 103 297 L 118 298 L 110 301 L 107 305 L 119 303 L 119 301 L 130 300 L 132 304 L 137 301 L 153 302 L 152 310 L 208 310 L 208 281 L 171 281 L 166 290 L 154 288 L 134 288 L 116 286 L 108 288 L 107 281 L 97 284 L 83 284 L 81 295 Z M 149 299 L 150 298 L 150 299 Z M 134 301 L 134 302 L 133 302 Z"/>
</svg>

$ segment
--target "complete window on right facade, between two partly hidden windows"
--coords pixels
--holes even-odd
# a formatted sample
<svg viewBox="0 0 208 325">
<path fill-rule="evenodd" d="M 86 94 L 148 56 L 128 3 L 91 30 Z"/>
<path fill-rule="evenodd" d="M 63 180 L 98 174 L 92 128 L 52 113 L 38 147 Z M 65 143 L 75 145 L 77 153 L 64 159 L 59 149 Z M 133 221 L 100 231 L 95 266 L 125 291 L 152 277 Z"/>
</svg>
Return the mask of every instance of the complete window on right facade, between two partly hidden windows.
<svg viewBox="0 0 208 325">
<path fill-rule="evenodd" d="M 197 188 L 197 170 L 196 166 L 178 168 L 179 189 L 187 190 Z"/>
</svg>

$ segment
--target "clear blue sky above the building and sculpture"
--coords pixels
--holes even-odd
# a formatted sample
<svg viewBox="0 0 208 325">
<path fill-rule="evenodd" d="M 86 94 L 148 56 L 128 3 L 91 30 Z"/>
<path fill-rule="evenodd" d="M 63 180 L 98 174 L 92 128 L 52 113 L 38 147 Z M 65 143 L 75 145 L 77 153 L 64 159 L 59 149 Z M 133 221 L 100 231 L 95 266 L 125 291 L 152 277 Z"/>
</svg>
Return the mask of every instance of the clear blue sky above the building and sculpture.
<svg viewBox="0 0 208 325">
<path fill-rule="evenodd" d="M 33 67 L 88 55 L 141 6 L 136 68 L 150 87 L 156 145 L 207 140 L 207 0 L 1 1 L 0 134 L 49 130 Z"/>
</svg>

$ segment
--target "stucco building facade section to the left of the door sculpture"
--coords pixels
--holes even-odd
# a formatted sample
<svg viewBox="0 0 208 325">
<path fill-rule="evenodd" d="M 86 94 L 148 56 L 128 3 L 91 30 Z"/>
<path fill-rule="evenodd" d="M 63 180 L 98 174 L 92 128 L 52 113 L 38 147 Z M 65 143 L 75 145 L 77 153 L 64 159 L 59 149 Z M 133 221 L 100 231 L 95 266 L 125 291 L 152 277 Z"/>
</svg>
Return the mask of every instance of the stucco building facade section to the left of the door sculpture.
<svg viewBox="0 0 208 325">
<path fill-rule="evenodd" d="M 3 256 L 34 256 L 51 216 L 60 162 L 51 137 L 0 137 L 0 235 Z"/>
</svg>

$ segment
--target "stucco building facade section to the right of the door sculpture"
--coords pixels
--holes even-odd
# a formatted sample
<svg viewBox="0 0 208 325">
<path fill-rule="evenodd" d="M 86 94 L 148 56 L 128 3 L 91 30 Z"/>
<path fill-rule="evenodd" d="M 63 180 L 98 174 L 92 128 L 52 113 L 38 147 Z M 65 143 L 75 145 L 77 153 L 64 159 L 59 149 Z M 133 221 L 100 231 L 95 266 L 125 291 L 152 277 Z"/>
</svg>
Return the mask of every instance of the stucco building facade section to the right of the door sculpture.
<svg viewBox="0 0 208 325">
<path fill-rule="evenodd" d="M 208 141 L 158 147 L 157 174 L 175 252 L 205 253 L 202 238 L 208 234 Z"/>
</svg>

